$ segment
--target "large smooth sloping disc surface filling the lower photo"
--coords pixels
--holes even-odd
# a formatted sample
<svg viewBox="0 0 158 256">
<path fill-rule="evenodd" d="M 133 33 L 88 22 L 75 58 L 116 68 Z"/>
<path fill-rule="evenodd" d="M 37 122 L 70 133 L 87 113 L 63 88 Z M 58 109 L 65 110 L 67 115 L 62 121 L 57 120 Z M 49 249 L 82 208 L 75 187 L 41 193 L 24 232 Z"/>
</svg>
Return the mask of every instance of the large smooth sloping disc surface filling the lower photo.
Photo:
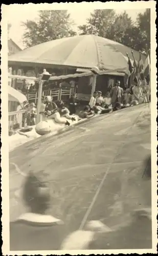
<svg viewBox="0 0 158 256">
<path fill-rule="evenodd" d="M 80 227 L 89 207 L 86 221 L 109 227 L 125 222 L 133 209 L 151 207 L 151 179 L 142 178 L 150 135 L 150 104 L 142 104 L 17 147 L 9 154 L 10 220 L 26 211 L 20 188 L 30 169 L 46 175 L 52 188 L 49 213 L 70 230 Z"/>
</svg>

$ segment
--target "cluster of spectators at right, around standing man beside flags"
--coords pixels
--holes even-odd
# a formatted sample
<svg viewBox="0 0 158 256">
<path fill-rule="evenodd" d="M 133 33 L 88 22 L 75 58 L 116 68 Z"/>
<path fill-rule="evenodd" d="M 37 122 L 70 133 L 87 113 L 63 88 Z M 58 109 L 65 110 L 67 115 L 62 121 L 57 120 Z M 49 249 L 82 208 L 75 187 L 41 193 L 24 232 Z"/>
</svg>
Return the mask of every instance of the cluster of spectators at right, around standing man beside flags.
<svg viewBox="0 0 158 256">
<path fill-rule="evenodd" d="M 105 110 L 119 110 L 127 106 L 149 102 L 150 89 L 146 81 L 143 80 L 140 84 L 139 81 L 135 79 L 133 83 L 130 88 L 123 90 L 118 80 L 104 98 L 102 97 L 101 91 L 94 92 L 94 95 L 89 101 L 90 111 L 106 113 Z"/>
</svg>

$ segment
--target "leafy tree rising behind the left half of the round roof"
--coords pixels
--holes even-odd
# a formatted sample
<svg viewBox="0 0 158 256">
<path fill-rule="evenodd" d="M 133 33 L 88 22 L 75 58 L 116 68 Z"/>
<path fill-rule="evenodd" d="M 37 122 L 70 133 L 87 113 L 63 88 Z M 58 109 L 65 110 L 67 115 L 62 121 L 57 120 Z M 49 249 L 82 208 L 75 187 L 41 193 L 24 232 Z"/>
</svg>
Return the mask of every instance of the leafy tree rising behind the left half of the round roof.
<svg viewBox="0 0 158 256">
<path fill-rule="evenodd" d="M 27 20 L 22 23 L 25 27 L 23 42 L 26 47 L 35 46 L 62 37 L 76 35 L 72 29 L 73 22 L 67 10 L 39 11 L 39 19 Z"/>
</svg>

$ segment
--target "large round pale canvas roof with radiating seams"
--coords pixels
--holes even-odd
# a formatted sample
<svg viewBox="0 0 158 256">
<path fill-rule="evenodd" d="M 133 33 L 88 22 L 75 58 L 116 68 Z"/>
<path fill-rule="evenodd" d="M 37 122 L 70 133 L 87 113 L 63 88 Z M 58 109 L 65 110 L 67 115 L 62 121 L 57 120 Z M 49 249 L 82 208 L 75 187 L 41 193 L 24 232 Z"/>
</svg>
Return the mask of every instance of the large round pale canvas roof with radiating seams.
<svg viewBox="0 0 158 256">
<path fill-rule="evenodd" d="M 56 39 L 31 47 L 8 57 L 9 65 L 36 67 L 76 67 L 120 69 L 127 67 L 127 55 L 132 58 L 131 49 L 118 42 L 96 35 L 80 35 Z M 139 60 L 139 52 L 133 50 Z M 142 56 L 144 61 L 144 56 Z"/>
</svg>

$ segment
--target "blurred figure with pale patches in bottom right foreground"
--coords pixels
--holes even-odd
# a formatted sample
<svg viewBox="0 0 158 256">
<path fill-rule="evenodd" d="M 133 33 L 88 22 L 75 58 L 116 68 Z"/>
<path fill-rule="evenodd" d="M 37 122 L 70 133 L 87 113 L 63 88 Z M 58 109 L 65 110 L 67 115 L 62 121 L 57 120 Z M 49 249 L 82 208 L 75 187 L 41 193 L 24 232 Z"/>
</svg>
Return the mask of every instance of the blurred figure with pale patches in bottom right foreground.
<svg viewBox="0 0 158 256">
<path fill-rule="evenodd" d="M 111 229 L 100 221 L 91 221 L 85 230 L 70 234 L 62 243 L 63 250 L 83 249 L 150 249 L 152 248 L 151 209 L 131 212 L 129 220 Z"/>
</svg>

